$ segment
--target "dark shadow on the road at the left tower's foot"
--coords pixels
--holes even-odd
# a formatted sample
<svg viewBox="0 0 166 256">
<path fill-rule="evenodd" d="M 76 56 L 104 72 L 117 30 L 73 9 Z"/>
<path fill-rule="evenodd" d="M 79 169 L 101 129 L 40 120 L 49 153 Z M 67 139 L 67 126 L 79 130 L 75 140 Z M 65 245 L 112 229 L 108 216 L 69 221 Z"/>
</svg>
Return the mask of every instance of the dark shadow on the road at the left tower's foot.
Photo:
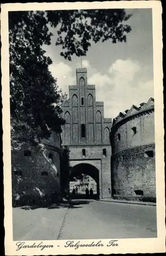
<svg viewBox="0 0 166 256">
<path fill-rule="evenodd" d="M 75 200 L 70 202 L 60 202 L 60 203 L 54 203 L 51 205 L 48 204 L 38 204 L 38 205 L 24 205 L 24 206 L 16 206 L 20 207 L 23 210 L 35 210 L 38 208 L 47 208 L 47 209 L 59 209 L 59 208 L 81 208 L 84 204 L 89 204 L 90 201 L 83 200 Z"/>
</svg>

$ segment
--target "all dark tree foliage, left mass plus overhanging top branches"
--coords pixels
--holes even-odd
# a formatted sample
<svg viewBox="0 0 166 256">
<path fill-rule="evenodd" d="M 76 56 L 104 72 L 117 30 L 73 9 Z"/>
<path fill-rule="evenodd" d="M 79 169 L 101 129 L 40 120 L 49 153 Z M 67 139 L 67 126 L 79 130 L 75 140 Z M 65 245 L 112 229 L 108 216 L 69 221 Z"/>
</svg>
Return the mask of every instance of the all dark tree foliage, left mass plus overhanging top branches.
<svg viewBox="0 0 166 256">
<path fill-rule="evenodd" d="M 13 129 L 26 123 L 38 138 L 60 132 L 62 93 L 49 71 L 52 60 L 42 46 L 51 44 L 49 26 L 58 28 L 56 46 L 67 60 L 85 56 L 91 42 L 125 42 L 131 31 L 124 9 L 9 12 L 10 106 Z M 57 72 L 59 72 L 57 70 Z"/>
</svg>

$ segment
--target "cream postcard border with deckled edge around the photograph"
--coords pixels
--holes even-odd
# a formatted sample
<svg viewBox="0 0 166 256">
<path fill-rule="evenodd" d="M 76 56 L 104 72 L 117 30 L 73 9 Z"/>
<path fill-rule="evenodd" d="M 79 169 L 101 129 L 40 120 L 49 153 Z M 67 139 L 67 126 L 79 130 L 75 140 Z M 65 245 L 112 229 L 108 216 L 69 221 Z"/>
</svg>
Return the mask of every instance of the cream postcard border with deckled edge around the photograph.
<svg viewBox="0 0 166 256">
<path fill-rule="evenodd" d="M 11 145 L 10 145 L 10 92 L 9 92 L 9 41 L 8 11 L 52 10 L 52 9 L 108 9 L 108 8 L 152 8 L 153 15 L 153 56 L 154 56 L 154 98 L 155 98 L 155 154 L 157 188 L 157 238 L 119 239 L 118 246 L 107 247 L 109 239 L 102 239 L 103 247 L 65 248 L 65 240 L 42 241 L 53 244 L 53 248 L 37 248 L 16 251 L 12 239 L 12 199 L 11 199 Z M 4 161 L 4 201 L 5 201 L 5 251 L 6 255 L 48 255 L 48 254 L 110 254 L 165 252 L 165 199 L 164 199 L 164 130 L 163 130 L 163 86 L 162 86 L 162 21 L 159 1 L 119 1 L 119 2 L 75 2 L 75 3 L 27 3 L 3 4 L 1 13 L 2 36 L 2 98 L 3 98 L 3 161 Z M 76 241 L 76 240 L 75 240 Z M 81 240 L 81 243 L 99 240 Z M 40 241 L 26 241 L 26 244 Z M 77 242 L 77 241 L 76 241 Z"/>
</svg>

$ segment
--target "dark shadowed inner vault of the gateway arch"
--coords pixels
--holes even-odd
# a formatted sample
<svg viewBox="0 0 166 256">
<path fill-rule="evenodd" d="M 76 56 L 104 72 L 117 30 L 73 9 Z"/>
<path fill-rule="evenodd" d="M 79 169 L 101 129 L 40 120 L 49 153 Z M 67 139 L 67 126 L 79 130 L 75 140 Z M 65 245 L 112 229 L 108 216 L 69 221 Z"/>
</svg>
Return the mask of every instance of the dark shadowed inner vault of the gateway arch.
<svg viewBox="0 0 166 256">
<path fill-rule="evenodd" d="M 70 170 L 73 176 L 79 174 L 86 174 L 94 179 L 97 183 L 97 197 L 100 198 L 100 181 L 99 181 L 99 170 L 89 163 L 79 163 L 72 167 Z"/>
</svg>

